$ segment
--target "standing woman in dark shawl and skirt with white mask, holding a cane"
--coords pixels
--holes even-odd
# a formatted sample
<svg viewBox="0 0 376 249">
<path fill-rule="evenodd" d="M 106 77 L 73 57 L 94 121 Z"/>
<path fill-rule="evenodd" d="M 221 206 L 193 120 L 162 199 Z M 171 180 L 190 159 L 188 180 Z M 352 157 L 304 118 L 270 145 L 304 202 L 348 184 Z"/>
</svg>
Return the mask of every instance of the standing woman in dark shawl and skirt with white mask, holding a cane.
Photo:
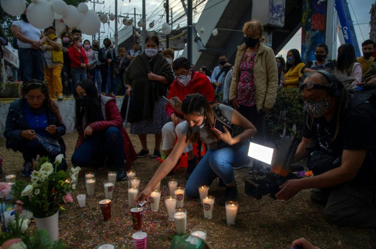
<svg viewBox="0 0 376 249">
<path fill-rule="evenodd" d="M 167 100 L 162 97 L 166 96 L 174 76 L 171 65 L 158 49 L 158 37 L 148 36 L 145 39 L 145 51 L 133 59 L 124 74 L 126 94 L 131 97 L 128 114 L 130 133 L 138 135 L 142 146 L 138 157 L 149 155 L 148 134 L 155 135 L 152 157 L 160 157 L 161 130 L 169 122 L 165 111 Z"/>
</svg>

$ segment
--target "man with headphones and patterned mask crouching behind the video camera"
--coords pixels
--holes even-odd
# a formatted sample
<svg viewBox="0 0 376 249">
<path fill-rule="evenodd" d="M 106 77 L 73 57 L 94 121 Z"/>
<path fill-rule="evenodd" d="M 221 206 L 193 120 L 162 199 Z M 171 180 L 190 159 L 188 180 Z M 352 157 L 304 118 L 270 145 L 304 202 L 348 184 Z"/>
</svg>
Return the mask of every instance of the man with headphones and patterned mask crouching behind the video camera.
<svg viewBox="0 0 376 249">
<path fill-rule="evenodd" d="M 339 77 L 319 70 L 299 86 L 308 114 L 294 161 L 308 157 L 314 176 L 286 181 L 275 197 L 311 188 L 328 222 L 376 228 L 376 110 L 369 101 L 354 107 Z"/>
</svg>

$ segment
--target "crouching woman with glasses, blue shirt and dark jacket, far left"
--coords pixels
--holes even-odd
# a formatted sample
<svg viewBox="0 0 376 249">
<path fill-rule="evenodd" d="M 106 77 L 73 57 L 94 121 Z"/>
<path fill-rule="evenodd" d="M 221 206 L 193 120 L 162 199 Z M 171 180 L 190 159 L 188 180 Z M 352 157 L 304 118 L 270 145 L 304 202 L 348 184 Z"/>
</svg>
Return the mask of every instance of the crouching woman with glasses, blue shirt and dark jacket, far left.
<svg viewBox="0 0 376 249">
<path fill-rule="evenodd" d="M 9 106 L 4 136 L 7 148 L 22 153 L 21 175 L 30 176 L 37 155 L 48 156 L 51 161 L 55 161 L 58 154 L 65 157 L 62 139 L 65 125 L 59 107 L 50 98 L 43 81 L 26 81 L 22 86 L 22 96 Z M 66 170 L 66 167 L 63 159 L 57 170 Z"/>
</svg>

